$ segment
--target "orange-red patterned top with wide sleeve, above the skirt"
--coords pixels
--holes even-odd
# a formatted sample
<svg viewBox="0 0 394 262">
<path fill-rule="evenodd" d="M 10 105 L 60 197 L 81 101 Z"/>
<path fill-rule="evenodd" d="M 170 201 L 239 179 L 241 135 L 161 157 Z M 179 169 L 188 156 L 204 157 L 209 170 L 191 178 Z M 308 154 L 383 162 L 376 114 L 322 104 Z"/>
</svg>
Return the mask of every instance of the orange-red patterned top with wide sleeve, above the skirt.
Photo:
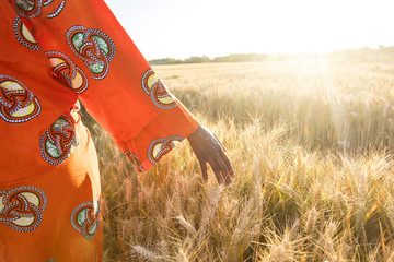
<svg viewBox="0 0 394 262">
<path fill-rule="evenodd" d="M 20 122 L 0 121 L 3 147 L 15 148 L 0 153 L 7 174 L 0 183 L 53 168 L 37 140 L 77 98 L 140 170 L 196 130 L 197 120 L 166 91 L 102 0 L 0 4 L 2 98 L 15 104 L 22 97 L 21 107 L 39 110 L 22 108 Z M 22 92 L 8 94 L 10 83 Z M 9 104 L 1 103 L 1 110 L 15 114 Z"/>
</svg>

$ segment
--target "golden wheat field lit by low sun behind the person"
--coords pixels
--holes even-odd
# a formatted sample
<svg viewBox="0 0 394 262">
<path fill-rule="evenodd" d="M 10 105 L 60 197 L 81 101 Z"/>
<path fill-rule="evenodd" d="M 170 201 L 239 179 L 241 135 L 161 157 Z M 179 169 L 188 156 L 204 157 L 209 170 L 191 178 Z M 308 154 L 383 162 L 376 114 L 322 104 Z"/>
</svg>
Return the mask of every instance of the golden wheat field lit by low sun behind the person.
<svg viewBox="0 0 394 262">
<path fill-rule="evenodd" d="M 228 148 L 204 183 L 185 141 L 137 174 L 88 117 L 106 261 L 394 261 L 394 63 L 158 66 Z"/>
</svg>

